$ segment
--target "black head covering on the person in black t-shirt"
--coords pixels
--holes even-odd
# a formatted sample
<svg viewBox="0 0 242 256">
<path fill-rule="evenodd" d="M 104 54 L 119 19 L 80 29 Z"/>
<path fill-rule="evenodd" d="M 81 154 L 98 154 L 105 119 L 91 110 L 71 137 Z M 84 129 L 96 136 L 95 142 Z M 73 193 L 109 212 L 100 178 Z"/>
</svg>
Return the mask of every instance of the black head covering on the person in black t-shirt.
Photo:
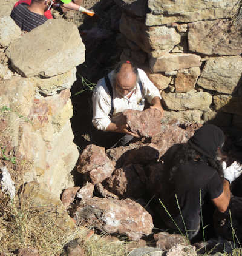
<svg viewBox="0 0 242 256">
<path fill-rule="evenodd" d="M 206 124 L 194 133 L 188 144 L 202 155 L 214 159 L 218 147 L 224 144 L 224 134 L 217 126 Z"/>
</svg>

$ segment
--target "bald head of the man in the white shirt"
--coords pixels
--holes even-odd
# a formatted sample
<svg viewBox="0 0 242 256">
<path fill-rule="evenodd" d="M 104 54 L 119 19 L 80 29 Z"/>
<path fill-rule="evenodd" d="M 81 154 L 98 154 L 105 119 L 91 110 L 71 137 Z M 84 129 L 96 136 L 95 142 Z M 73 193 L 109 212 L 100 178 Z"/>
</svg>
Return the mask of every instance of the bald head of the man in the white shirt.
<svg viewBox="0 0 242 256">
<path fill-rule="evenodd" d="M 137 81 L 137 73 L 132 64 L 123 63 L 116 73 L 116 90 L 120 96 L 125 96 L 134 89 Z"/>
</svg>

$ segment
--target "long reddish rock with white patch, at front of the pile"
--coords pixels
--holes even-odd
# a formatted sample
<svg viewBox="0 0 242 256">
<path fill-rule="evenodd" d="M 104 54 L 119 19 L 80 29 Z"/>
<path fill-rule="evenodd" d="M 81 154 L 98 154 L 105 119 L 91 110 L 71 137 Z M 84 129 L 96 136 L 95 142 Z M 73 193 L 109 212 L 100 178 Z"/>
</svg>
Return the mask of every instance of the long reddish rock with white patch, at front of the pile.
<svg viewBox="0 0 242 256">
<path fill-rule="evenodd" d="M 76 218 L 77 224 L 91 224 L 110 234 L 125 234 L 131 240 L 151 234 L 154 227 L 151 215 L 131 199 L 91 198 L 80 203 Z"/>
</svg>

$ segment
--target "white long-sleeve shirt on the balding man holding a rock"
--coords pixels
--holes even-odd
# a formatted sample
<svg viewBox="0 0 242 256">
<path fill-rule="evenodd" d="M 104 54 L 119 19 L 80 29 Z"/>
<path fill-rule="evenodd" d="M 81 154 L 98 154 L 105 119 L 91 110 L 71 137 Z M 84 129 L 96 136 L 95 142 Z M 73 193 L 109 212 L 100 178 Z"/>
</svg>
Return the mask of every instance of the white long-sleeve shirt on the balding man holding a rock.
<svg viewBox="0 0 242 256">
<path fill-rule="evenodd" d="M 142 90 L 140 91 L 140 86 L 137 81 L 134 87 L 134 92 L 128 98 L 126 96 L 121 97 L 116 92 L 115 81 L 114 81 L 114 70 L 108 74 L 111 86 L 113 88 L 113 115 L 119 112 L 123 112 L 126 109 L 140 110 L 144 109 L 144 103 L 142 98 L 147 99 L 148 103 L 151 103 L 154 97 L 160 97 L 159 90 L 154 84 L 149 80 L 148 76 L 142 69 L 138 69 L 139 79 L 142 83 Z M 102 78 L 97 82 L 96 89 L 93 92 L 93 125 L 98 130 L 106 130 L 106 128 L 111 123 L 111 118 L 109 115 L 111 111 L 111 96 L 106 86 L 105 79 Z"/>
</svg>

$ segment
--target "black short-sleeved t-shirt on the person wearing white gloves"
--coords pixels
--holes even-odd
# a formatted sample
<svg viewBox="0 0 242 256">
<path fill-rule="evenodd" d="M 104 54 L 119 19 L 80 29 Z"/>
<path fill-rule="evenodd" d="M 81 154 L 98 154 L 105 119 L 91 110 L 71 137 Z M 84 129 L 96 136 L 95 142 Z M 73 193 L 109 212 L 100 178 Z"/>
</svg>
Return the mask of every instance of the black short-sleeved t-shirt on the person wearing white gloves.
<svg viewBox="0 0 242 256">
<path fill-rule="evenodd" d="M 169 160 L 169 157 L 166 157 L 166 161 Z M 166 184 L 166 191 L 159 195 L 160 200 L 183 232 L 185 229 L 181 214 L 186 230 L 197 229 L 200 224 L 201 205 L 204 197 L 208 195 L 210 199 L 214 199 L 223 192 L 223 184 L 217 170 L 201 161 L 188 161 L 179 164 L 173 177 Z M 171 223 L 171 217 L 163 209 L 163 206 L 160 207 L 162 207 L 162 218 L 165 223 Z"/>
</svg>

